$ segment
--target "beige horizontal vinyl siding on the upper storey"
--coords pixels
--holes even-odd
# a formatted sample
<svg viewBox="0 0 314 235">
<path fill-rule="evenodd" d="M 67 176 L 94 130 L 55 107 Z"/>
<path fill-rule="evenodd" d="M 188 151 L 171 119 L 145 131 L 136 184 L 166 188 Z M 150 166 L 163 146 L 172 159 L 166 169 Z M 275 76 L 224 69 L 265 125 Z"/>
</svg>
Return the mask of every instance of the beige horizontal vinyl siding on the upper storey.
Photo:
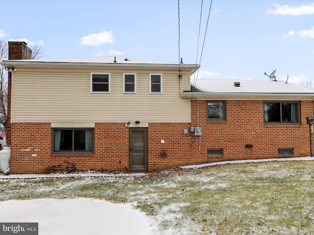
<svg viewBox="0 0 314 235">
<path fill-rule="evenodd" d="M 110 94 L 90 92 L 90 73 L 110 73 Z M 11 122 L 189 122 L 178 71 L 162 71 L 163 95 L 149 92 L 148 70 L 136 73 L 136 94 L 123 94 L 122 70 L 19 68 L 12 79 Z M 153 71 L 161 73 L 161 71 Z M 181 91 L 189 90 L 183 73 Z"/>
</svg>

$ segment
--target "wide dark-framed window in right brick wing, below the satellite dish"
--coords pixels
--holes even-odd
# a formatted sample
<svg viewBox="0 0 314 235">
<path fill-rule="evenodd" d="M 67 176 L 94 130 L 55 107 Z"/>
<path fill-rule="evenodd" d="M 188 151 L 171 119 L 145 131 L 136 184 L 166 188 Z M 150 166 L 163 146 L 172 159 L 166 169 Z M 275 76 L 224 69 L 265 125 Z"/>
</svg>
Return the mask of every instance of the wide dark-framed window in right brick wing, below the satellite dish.
<svg viewBox="0 0 314 235">
<path fill-rule="evenodd" d="M 300 108 L 298 101 L 264 102 L 265 123 L 300 123 Z"/>
</svg>

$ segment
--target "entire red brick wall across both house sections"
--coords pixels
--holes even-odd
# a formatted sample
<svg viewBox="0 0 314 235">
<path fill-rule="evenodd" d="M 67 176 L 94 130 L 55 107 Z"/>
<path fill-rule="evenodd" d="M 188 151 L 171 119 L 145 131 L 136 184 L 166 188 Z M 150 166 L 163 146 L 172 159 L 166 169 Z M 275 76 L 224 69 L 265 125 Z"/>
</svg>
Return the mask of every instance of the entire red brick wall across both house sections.
<svg viewBox="0 0 314 235">
<path fill-rule="evenodd" d="M 309 126 L 313 102 L 302 101 L 301 125 L 264 125 L 262 101 L 226 101 L 227 121 L 206 121 L 206 101 L 199 101 L 202 136 L 183 135 L 197 126 L 196 101 L 192 123 L 149 123 L 148 170 L 223 160 L 277 158 L 278 148 L 293 148 L 289 157 L 310 155 Z M 51 123 L 12 123 L 11 170 L 40 173 L 47 166 L 75 163 L 80 170 L 129 169 L 129 128 L 125 123 L 95 124 L 94 154 L 51 154 Z M 164 143 L 161 143 L 164 140 Z M 253 148 L 245 148 L 253 144 Z M 223 156 L 208 156 L 207 149 L 223 149 Z M 162 156 L 162 151 L 167 153 Z M 285 156 L 286 157 L 286 156 Z M 121 163 L 117 163 L 117 161 Z"/>
</svg>

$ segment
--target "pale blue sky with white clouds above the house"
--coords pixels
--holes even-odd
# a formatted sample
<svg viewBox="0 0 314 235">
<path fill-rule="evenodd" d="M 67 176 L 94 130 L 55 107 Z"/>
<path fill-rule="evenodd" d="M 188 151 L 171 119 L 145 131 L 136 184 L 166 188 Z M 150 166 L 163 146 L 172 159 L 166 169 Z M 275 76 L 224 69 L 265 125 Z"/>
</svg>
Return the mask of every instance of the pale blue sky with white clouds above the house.
<svg viewBox="0 0 314 235">
<path fill-rule="evenodd" d="M 179 62 L 178 0 L 0 0 L 0 40 L 43 58 Z M 199 78 L 314 80 L 314 0 L 180 0 L 180 57 Z M 4 10 L 5 9 L 5 10 Z M 16 14 L 16 16 L 12 14 Z"/>
</svg>

